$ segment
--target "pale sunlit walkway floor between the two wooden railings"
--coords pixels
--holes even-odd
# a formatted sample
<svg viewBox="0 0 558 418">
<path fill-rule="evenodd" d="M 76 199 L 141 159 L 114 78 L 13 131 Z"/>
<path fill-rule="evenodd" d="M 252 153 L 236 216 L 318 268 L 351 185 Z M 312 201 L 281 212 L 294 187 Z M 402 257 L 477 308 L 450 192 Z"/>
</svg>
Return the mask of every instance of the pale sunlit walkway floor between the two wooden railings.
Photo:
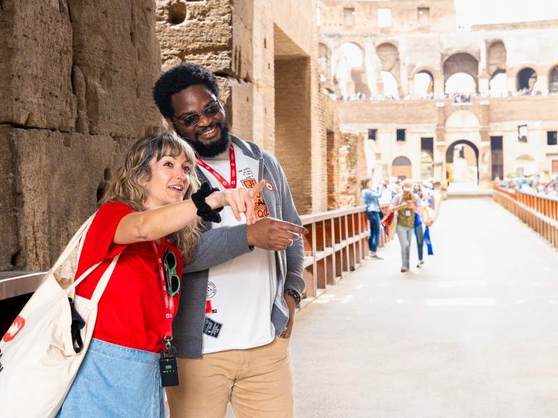
<svg viewBox="0 0 558 418">
<path fill-rule="evenodd" d="M 395 240 L 300 312 L 297 418 L 558 417 L 557 251 L 491 199 L 444 202 L 432 241 L 424 268 L 400 273 Z"/>
</svg>

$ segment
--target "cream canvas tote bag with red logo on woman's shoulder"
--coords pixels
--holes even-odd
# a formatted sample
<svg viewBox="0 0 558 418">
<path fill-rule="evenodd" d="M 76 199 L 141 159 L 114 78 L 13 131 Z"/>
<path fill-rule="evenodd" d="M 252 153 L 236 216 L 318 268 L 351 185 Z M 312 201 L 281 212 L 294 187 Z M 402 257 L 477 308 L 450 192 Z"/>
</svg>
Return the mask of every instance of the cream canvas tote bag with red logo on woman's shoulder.
<svg viewBox="0 0 558 418">
<path fill-rule="evenodd" d="M 75 233 L 0 340 L 2 418 L 54 417 L 80 368 L 93 335 L 97 304 L 119 258 L 112 259 L 91 300 L 75 295 L 75 286 L 100 264 L 92 265 L 72 281 L 94 217 L 95 214 L 91 215 Z M 72 339 L 72 312 L 68 297 L 73 297 L 75 309 L 85 322 L 80 332 L 83 341 L 82 350 L 78 349 L 80 353 L 76 353 Z"/>
</svg>

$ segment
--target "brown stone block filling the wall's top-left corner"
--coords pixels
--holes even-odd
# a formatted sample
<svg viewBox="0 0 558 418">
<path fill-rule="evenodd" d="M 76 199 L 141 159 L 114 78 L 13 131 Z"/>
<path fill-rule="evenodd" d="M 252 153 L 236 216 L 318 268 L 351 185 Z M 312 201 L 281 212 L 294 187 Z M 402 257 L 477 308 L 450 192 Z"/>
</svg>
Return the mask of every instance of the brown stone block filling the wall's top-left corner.
<svg viewBox="0 0 558 418">
<path fill-rule="evenodd" d="M 0 3 L 0 123 L 73 130 L 72 26 L 64 1 Z"/>
</svg>

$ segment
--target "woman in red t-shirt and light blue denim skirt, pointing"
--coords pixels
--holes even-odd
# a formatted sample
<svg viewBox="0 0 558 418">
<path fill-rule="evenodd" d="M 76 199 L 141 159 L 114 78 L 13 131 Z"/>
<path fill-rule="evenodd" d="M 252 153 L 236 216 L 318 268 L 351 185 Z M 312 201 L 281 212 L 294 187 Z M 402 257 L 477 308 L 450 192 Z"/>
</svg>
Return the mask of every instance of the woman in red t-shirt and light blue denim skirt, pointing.
<svg viewBox="0 0 558 418">
<path fill-rule="evenodd" d="M 263 186 L 215 192 L 203 185 L 195 193 L 195 153 L 186 141 L 162 133 L 132 146 L 84 240 L 76 277 L 101 264 L 78 295 L 91 298 L 119 258 L 59 417 L 165 417 L 159 363 L 172 354 L 182 259 L 191 258 L 199 238 L 197 214 L 218 222 L 215 210 L 230 206 L 251 224 L 252 199 Z"/>
</svg>

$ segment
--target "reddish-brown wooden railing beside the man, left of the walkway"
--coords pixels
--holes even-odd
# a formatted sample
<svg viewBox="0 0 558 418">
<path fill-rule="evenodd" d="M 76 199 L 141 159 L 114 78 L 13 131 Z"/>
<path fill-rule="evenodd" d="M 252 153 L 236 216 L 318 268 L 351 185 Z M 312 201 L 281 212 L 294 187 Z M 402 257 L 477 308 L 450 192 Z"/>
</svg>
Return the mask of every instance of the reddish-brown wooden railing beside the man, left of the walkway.
<svg viewBox="0 0 558 418">
<path fill-rule="evenodd" d="M 368 219 L 365 207 L 329 210 L 301 216 L 304 235 L 306 297 L 317 297 L 336 284 L 368 256 Z M 388 240 L 382 229 L 378 247 Z"/>
</svg>

